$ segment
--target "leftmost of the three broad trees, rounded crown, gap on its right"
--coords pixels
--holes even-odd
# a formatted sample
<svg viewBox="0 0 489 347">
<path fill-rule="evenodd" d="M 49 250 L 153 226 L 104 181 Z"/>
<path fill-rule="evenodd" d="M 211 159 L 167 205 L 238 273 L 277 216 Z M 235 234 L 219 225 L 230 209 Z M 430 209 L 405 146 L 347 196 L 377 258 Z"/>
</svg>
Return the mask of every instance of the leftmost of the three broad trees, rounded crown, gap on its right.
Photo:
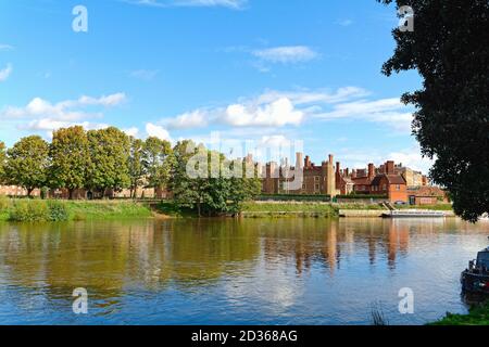
<svg viewBox="0 0 489 347">
<path fill-rule="evenodd" d="M 27 190 L 27 196 L 46 183 L 48 167 L 49 144 L 38 136 L 23 138 L 7 151 L 7 182 Z"/>
</svg>

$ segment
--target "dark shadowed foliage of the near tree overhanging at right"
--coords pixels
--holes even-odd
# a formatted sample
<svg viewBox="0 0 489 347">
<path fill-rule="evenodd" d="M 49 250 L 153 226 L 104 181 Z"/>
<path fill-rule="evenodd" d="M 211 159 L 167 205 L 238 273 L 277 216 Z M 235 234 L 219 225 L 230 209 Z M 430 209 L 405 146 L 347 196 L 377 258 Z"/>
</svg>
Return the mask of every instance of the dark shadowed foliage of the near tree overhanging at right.
<svg viewBox="0 0 489 347">
<path fill-rule="evenodd" d="M 392 0 L 378 0 L 386 4 Z M 489 2 L 397 0 L 414 11 L 414 31 L 393 30 L 383 73 L 417 69 L 423 88 L 402 97 L 416 106 L 413 132 L 435 158 L 430 177 L 469 221 L 489 211 Z"/>
</svg>

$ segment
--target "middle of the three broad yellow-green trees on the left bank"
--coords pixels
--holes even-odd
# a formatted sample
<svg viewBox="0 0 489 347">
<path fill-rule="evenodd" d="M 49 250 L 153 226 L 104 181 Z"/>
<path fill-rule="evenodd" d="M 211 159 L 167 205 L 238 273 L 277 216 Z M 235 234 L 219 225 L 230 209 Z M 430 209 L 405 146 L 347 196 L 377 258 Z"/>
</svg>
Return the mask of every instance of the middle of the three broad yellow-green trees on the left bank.
<svg viewBox="0 0 489 347">
<path fill-rule="evenodd" d="M 90 153 L 88 137 L 83 127 L 75 126 L 53 132 L 50 146 L 50 185 L 65 188 L 70 200 L 76 189 L 86 187 Z"/>
</svg>

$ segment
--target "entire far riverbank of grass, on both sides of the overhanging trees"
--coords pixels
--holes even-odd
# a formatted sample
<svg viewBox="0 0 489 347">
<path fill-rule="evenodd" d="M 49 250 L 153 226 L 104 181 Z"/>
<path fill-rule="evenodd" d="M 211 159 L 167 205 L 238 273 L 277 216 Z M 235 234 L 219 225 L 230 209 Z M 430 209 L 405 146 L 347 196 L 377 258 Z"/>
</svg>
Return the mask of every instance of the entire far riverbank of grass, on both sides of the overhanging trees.
<svg viewBox="0 0 489 347">
<path fill-rule="evenodd" d="M 400 206 L 401 209 L 410 206 Z M 417 209 L 451 210 L 451 205 L 419 206 Z M 381 205 L 333 204 L 324 202 L 247 202 L 240 214 L 243 218 L 313 217 L 338 218 L 379 217 Z M 0 197 L 0 220 L 66 221 L 129 218 L 196 218 L 195 210 L 180 208 L 173 202 L 149 204 L 133 201 L 53 201 L 9 200 Z"/>
</svg>

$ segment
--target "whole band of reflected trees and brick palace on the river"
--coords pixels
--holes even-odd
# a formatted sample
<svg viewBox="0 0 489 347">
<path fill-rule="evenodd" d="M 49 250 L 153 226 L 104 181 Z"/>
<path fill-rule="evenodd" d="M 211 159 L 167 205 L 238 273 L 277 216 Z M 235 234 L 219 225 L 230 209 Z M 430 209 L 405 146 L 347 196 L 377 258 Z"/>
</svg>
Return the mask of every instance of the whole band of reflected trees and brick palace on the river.
<svg viewBox="0 0 489 347">
<path fill-rule="evenodd" d="M 447 220 L 201 219 L 0 224 L 0 282 L 71 299 L 73 288 L 116 298 L 125 291 L 190 290 L 225 277 L 290 265 L 330 273 L 350 258 L 394 269 L 411 236 L 432 242 Z M 421 241 L 419 241 L 421 239 Z"/>
</svg>

